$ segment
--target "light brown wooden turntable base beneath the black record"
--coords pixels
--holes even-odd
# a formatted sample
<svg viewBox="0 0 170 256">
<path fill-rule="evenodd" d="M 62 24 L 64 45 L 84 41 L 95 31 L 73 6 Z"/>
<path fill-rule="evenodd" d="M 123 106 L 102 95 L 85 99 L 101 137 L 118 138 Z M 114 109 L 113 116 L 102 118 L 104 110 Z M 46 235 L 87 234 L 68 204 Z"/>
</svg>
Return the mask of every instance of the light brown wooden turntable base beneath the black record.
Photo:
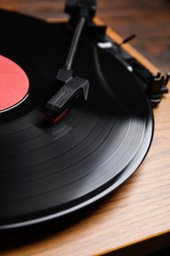
<svg viewBox="0 0 170 256">
<path fill-rule="evenodd" d="M 110 33 L 112 37 L 114 34 Z M 131 46 L 129 49 L 136 54 Z M 142 58 L 143 61 L 148 64 Z M 150 64 L 151 68 L 156 70 Z M 81 214 L 78 222 L 59 227 L 59 230 L 50 226 L 46 234 L 37 237 L 38 232 L 31 233 L 32 237 L 23 237 L 20 242 L 17 235 L 13 241 L 9 237 L 2 255 L 101 255 L 114 250 L 126 251 L 123 255 L 132 255 L 132 252 L 137 255 L 139 251 L 169 245 L 169 109 L 170 96 L 167 95 L 154 109 L 155 131 L 148 155 L 122 188 L 85 216 Z"/>
</svg>

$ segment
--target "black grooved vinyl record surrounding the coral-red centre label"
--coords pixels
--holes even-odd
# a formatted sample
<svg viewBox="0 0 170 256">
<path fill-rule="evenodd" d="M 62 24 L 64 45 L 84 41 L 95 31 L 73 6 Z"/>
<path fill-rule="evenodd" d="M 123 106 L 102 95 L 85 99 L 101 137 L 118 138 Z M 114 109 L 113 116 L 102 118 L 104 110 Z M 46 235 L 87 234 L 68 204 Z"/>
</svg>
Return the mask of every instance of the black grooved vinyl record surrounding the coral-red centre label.
<svg viewBox="0 0 170 256">
<path fill-rule="evenodd" d="M 149 149 L 153 116 L 132 72 L 89 33 L 73 67 L 89 81 L 87 100 L 48 123 L 44 106 L 59 89 L 73 32 L 5 11 L 0 22 L 1 54 L 29 80 L 27 99 L 0 113 L 0 229 L 8 229 L 67 216 L 118 188 Z"/>
</svg>

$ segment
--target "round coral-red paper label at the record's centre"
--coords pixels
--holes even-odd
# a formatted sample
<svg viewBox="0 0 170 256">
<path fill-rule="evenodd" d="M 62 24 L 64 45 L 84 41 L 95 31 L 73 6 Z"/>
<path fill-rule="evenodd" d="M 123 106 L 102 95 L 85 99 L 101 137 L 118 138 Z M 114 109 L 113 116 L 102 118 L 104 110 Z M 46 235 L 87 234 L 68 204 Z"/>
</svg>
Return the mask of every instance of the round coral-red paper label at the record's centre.
<svg viewBox="0 0 170 256">
<path fill-rule="evenodd" d="M 0 55 L 0 112 L 14 108 L 28 96 L 25 71 L 14 61 Z"/>
</svg>

